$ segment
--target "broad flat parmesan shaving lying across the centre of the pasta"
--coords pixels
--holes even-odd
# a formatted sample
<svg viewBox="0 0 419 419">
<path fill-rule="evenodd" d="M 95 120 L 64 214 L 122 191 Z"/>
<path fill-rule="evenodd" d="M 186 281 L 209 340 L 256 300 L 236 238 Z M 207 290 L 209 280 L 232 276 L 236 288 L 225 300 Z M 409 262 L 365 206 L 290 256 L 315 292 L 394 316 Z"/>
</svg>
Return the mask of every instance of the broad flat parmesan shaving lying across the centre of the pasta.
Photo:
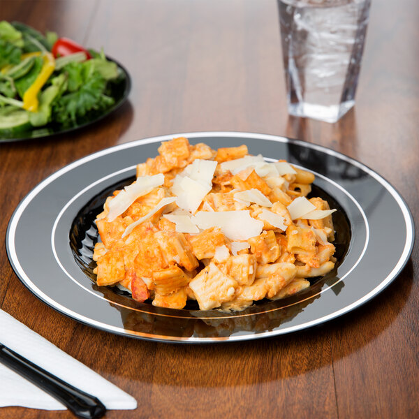
<svg viewBox="0 0 419 419">
<path fill-rule="evenodd" d="M 195 222 L 203 230 L 211 227 L 219 227 L 230 240 L 247 240 L 250 237 L 260 235 L 263 221 L 253 219 L 248 210 L 206 212 L 198 211 Z"/>
</svg>

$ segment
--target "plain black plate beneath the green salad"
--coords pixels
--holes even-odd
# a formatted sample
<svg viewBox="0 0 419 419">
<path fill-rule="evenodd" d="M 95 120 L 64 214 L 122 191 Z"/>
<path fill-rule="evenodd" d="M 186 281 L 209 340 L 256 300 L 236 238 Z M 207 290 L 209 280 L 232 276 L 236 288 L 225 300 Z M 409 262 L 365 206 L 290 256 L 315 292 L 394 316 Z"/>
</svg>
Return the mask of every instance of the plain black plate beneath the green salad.
<svg viewBox="0 0 419 419">
<path fill-rule="evenodd" d="M 13 142 L 13 141 L 22 141 L 22 140 L 31 140 L 36 138 L 47 138 L 52 135 L 59 135 L 64 133 L 73 133 L 81 128 L 85 128 L 91 124 L 95 124 L 101 119 L 110 115 L 110 113 L 117 110 L 128 98 L 128 94 L 131 91 L 131 77 L 126 71 L 126 68 L 119 64 L 115 59 L 106 57 L 108 60 L 115 62 L 118 66 L 118 77 L 115 80 L 108 82 L 106 87 L 106 94 L 115 99 L 115 103 L 105 110 L 105 112 L 91 111 L 87 113 L 82 121 L 79 124 L 64 127 L 59 124 L 54 124 L 50 122 L 45 126 L 40 126 L 38 128 L 32 128 L 27 131 L 20 131 L 18 133 L 0 133 L 0 143 L 1 142 Z"/>
</svg>

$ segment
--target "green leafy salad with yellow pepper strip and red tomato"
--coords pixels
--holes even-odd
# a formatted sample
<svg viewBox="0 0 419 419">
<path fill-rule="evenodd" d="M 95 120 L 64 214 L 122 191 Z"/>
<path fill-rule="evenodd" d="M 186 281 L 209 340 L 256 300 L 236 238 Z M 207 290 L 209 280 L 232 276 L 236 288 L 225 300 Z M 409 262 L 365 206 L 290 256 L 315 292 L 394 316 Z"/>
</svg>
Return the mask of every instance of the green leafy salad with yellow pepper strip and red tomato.
<svg viewBox="0 0 419 419">
<path fill-rule="evenodd" d="M 119 75 L 103 51 L 0 22 L 0 136 L 87 122 L 114 105 L 110 84 Z"/>
</svg>

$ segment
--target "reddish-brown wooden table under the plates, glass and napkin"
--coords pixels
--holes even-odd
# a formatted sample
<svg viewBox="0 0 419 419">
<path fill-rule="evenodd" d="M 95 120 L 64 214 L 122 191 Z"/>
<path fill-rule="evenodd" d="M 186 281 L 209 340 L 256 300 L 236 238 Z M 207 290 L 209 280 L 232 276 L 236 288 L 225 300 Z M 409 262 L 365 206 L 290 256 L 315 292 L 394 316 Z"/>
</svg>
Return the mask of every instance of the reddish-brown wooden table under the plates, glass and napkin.
<svg viewBox="0 0 419 419">
<path fill-rule="evenodd" d="M 67 163 L 122 142 L 189 131 L 325 145 L 383 175 L 418 219 L 418 15 L 417 0 L 373 0 L 357 104 L 337 124 L 325 124 L 287 115 L 273 0 L 0 0 L 1 20 L 104 47 L 133 78 L 128 103 L 105 121 L 0 145 L 1 240 L 20 200 Z M 24 288 L 4 247 L 0 306 L 138 400 L 137 411 L 108 418 L 418 418 L 418 253 L 360 309 L 242 344 L 161 344 L 84 326 Z M 71 414 L 8 407 L 0 417 Z"/>
</svg>

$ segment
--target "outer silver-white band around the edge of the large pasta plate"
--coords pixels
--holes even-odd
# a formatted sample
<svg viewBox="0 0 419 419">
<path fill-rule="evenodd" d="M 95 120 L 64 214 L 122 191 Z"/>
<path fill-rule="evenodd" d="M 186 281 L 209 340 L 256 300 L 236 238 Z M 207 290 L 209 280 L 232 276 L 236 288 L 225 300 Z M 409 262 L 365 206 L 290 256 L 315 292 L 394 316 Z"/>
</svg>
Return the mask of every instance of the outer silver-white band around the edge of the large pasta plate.
<svg viewBox="0 0 419 419">
<path fill-rule="evenodd" d="M 173 336 L 162 336 L 162 335 L 147 335 L 142 332 L 135 332 L 132 330 L 125 330 L 123 328 L 117 328 L 113 325 L 108 325 L 106 323 L 101 323 L 98 321 L 95 321 L 94 319 L 87 318 L 85 316 L 82 316 L 75 311 L 69 310 L 66 307 L 62 306 L 61 304 L 55 302 L 54 300 L 50 299 L 43 291 L 41 291 L 31 280 L 29 277 L 27 277 L 26 273 L 23 272 L 24 277 L 27 277 L 27 279 L 22 278 L 22 272 L 19 271 L 18 267 L 15 265 L 15 261 L 13 260 L 13 257 L 17 260 L 17 255 L 15 253 L 14 248 L 14 241 L 12 242 L 11 239 L 14 237 L 15 234 L 15 228 L 17 226 L 17 223 L 19 221 L 19 216 L 24 211 L 25 207 L 31 202 L 32 196 L 36 196 L 38 191 L 41 191 L 45 186 L 50 184 L 54 181 L 57 177 L 60 177 L 61 175 L 64 175 L 69 170 L 72 170 L 73 168 L 76 168 L 84 163 L 87 163 L 91 160 L 98 159 L 101 156 L 105 156 L 107 154 L 112 154 L 114 152 L 117 152 L 121 149 L 128 149 L 132 147 L 138 147 L 143 144 L 149 144 L 152 142 L 159 142 L 164 140 L 170 140 L 172 138 L 176 138 L 179 136 L 184 136 L 189 139 L 193 138 L 203 138 L 203 137 L 230 137 L 230 138 L 247 138 L 247 139 L 263 139 L 263 140 L 270 140 L 270 141 L 279 141 L 284 143 L 291 143 L 300 145 L 301 147 L 308 147 L 310 149 L 314 149 L 320 152 L 323 152 L 325 154 L 335 156 L 341 160 L 344 160 L 348 163 L 351 163 L 353 166 L 356 166 L 358 168 L 361 168 L 367 174 L 371 177 L 373 177 L 381 186 L 383 186 L 392 196 L 392 198 L 397 203 L 399 209 L 402 212 L 404 222 L 406 223 L 406 241 L 404 242 L 404 249 L 402 251 L 402 254 L 397 261 L 396 265 L 392 267 L 392 270 L 390 273 L 380 281 L 380 283 L 372 289 L 369 293 L 362 296 L 360 299 L 356 300 L 355 302 L 346 305 L 345 307 L 334 311 L 333 313 L 328 314 L 327 316 L 323 316 L 321 318 L 316 318 L 312 321 L 308 321 L 306 323 L 300 323 L 299 325 L 291 326 L 289 328 L 285 329 L 279 329 L 279 330 L 271 330 L 271 331 L 265 331 L 260 332 L 255 335 L 237 335 L 237 336 L 228 336 L 228 337 L 173 337 Z M 203 344 L 203 343 L 219 343 L 219 342 L 228 342 L 228 341 L 247 341 L 247 340 L 253 340 L 253 339 L 262 339 L 265 337 L 274 337 L 278 335 L 285 335 L 291 332 L 296 332 L 297 330 L 304 330 L 306 328 L 310 328 L 314 325 L 320 325 L 327 321 L 332 320 L 333 318 L 337 318 L 339 316 L 343 316 L 344 314 L 353 311 L 354 309 L 362 306 L 369 300 L 371 300 L 373 297 L 381 293 L 403 270 L 406 263 L 409 261 L 409 257 L 411 256 L 411 252 L 413 250 L 413 244 L 415 241 L 415 225 L 413 221 L 413 216 L 411 214 L 411 210 L 409 209 L 409 206 L 407 205 L 406 201 L 402 197 L 402 195 L 395 189 L 390 182 L 388 182 L 383 176 L 379 175 L 377 172 L 366 166 L 364 163 L 360 163 L 360 161 L 357 161 L 349 156 L 346 156 L 345 154 L 342 154 L 341 152 L 337 152 L 333 149 L 330 149 L 328 147 L 324 147 L 322 145 L 316 145 L 314 143 L 305 142 L 303 140 L 297 140 L 293 138 L 288 138 L 282 135 L 271 135 L 271 134 L 261 134 L 261 133 L 249 133 L 249 132 L 240 132 L 240 131 L 196 131 L 196 132 L 189 132 L 189 133 L 172 133 L 172 134 L 166 134 L 166 135 L 157 135 L 153 137 L 143 138 L 140 140 L 134 140 L 131 142 L 125 142 L 120 145 L 115 145 L 113 147 L 108 147 L 106 149 L 102 149 L 98 152 L 94 152 L 92 154 L 89 154 L 87 156 L 84 156 L 76 161 L 73 161 L 72 163 L 69 163 L 68 165 L 64 166 L 63 168 L 57 170 L 56 172 L 52 173 L 52 175 L 46 177 L 41 182 L 39 182 L 27 195 L 21 200 L 19 205 L 17 205 L 15 211 L 13 212 L 12 216 L 10 217 L 10 221 L 8 223 L 8 228 L 6 231 L 6 250 L 8 254 L 8 258 L 10 261 L 10 264 L 13 267 L 13 270 L 15 271 L 15 274 L 17 274 L 17 277 L 22 281 L 24 286 L 26 286 L 31 293 L 33 293 L 36 297 L 38 297 L 40 300 L 45 302 L 48 306 L 52 307 L 56 311 L 59 311 L 61 314 L 64 314 L 70 318 L 73 318 L 74 320 L 80 321 L 81 323 L 84 323 L 89 326 L 93 326 L 95 328 L 98 328 L 100 330 L 105 330 L 108 332 L 115 333 L 117 335 L 122 335 L 125 337 L 138 337 L 141 339 L 147 339 L 150 341 L 165 341 L 165 342 L 172 342 L 172 343 L 188 343 L 188 344 Z M 32 284 L 32 287 L 29 286 L 29 283 Z M 38 291 L 37 293 L 34 291 L 34 288 Z"/>
</svg>

